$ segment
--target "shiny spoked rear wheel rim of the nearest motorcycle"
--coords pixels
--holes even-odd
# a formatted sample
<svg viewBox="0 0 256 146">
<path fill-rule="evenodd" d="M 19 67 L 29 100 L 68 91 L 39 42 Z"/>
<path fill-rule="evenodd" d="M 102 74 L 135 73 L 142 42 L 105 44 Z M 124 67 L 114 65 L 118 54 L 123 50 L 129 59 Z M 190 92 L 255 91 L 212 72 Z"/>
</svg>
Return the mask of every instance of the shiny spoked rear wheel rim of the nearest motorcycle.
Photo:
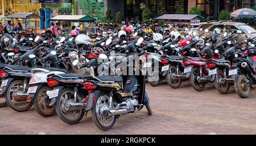
<svg viewBox="0 0 256 146">
<path fill-rule="evenodd" d="M 114 122 L 114 116 L 104 116 L 103 111 L 109 109 L 109 97 L 101 96 L 97 100 L 96 104 L 96 114 L 98 122 L 101 123 L 102 126 L 108 127 Z"/>
</svg>

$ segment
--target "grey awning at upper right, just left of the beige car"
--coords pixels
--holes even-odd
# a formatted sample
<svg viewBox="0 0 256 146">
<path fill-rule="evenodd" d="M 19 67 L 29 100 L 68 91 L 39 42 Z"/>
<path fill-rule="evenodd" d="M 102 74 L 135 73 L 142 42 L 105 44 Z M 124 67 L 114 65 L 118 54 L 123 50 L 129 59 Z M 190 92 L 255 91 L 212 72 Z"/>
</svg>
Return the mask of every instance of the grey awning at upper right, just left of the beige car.
<svg viewBox="0 0 256 146">
<path fill-rule="evenodd" d="M 162 19 L 162 20 L 192 20 L 192 19 L 205 19 L 201 15 L 186 15 L 186 14 L 164 14 L 155 19 Z"/>
</svg>

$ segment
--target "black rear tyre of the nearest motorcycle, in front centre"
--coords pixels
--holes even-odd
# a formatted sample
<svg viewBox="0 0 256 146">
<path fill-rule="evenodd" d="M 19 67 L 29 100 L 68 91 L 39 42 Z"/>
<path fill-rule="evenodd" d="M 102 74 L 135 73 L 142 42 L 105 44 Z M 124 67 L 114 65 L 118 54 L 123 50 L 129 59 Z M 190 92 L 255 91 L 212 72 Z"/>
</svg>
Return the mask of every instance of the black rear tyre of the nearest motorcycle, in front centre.
<svg viewBox="0 0 256 146">
<path fill-rule="evenodd" d="M 96 111 L 96 109 L 97 109 L 97 101 L 98 101 L 98 99 L 99 99 L 100 97 L 102 97 L 102 96 L 107 96 L 107 97 L 109 97 L 109 93 L 107 93 L 107 92 L 100 92 L 100 93 L 96 96 L 96 104 L 95 104 L 95 106 L 94 106 L 93 109 L 92 109 L 92 119 L 93 119 L 93 122 L 96 124 L 96 126 L 97 126 L 98 128 L 100 128 L 101 130 L 104 130 L 104 131 L 108 131 L 108 130 L 110 130 L 110 129 L 114 126 L 115 121 L 116 121 L 116 117 L 115 117 L 115 116 L 112 117 L 112 118 L 113 118 L 113 121 L 112 121 L 111 124 L 109 124 L 109 126 L 104 126 L 104 125 L 102 125 L 102 124 L 100 123 L 100 121 L 98 120 L 98 116 L 97 116 L 97 111 Z"/>
</svg>

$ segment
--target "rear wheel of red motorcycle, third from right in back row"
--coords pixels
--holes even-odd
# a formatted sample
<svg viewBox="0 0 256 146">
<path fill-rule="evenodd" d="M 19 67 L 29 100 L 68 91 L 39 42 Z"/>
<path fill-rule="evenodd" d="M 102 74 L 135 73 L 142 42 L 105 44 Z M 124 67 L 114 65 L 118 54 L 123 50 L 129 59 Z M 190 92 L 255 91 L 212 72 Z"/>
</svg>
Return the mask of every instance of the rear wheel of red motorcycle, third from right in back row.
<svg viewBox="0 0 256 146">
<path fill-rule="evenodd" d="M 205 88 L 205 83 L 199 83 L 197 81 L 197 76 L 200 75 L 200 70 L 197 67 L 193 67 L 192 71 L 191 71 L 191 75 L 189 78 L 189 81 L 192 85 L 192 87 L 196 90 L 196 91 L 203 91 Z"/>
</svg>

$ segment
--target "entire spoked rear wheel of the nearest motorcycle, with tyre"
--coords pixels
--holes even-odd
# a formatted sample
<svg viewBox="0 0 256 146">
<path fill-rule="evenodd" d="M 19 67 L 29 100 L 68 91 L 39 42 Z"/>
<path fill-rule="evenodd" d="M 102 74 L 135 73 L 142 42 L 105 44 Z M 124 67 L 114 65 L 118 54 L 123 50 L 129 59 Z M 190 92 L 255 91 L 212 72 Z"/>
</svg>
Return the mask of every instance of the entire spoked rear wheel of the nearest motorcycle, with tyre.
<svg viewBox="0 0 256 146">
<path fill-rule="evenodd" d="M 92 109 L 93 122 L 101 130 L 110 130 L 114 124 L 115 116 L 106 116 L 104 111 L 109 109 L 109 93 L 101 92 L 96 97 L 96 105 Z"/>
</svg>

